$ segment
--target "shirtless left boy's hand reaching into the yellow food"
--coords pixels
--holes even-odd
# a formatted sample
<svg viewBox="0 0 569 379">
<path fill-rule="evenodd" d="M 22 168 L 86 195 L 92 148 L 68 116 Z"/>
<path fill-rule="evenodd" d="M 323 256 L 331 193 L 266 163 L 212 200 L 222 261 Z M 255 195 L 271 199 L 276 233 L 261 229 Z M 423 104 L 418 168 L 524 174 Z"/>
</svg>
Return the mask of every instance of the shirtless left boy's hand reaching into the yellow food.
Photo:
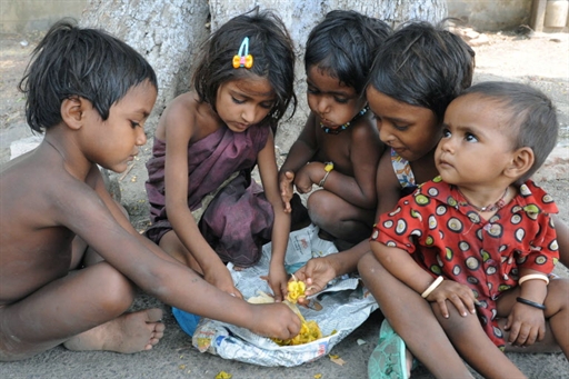
<svg viewBox="0 0 569 379">
<path fill-rule="evenodd" d="M 300 319 L 284 303 L 251 305 L 253 317 L 250 330 L 259 336 L 289 339 L 300 332 Z"/>
</svg>

